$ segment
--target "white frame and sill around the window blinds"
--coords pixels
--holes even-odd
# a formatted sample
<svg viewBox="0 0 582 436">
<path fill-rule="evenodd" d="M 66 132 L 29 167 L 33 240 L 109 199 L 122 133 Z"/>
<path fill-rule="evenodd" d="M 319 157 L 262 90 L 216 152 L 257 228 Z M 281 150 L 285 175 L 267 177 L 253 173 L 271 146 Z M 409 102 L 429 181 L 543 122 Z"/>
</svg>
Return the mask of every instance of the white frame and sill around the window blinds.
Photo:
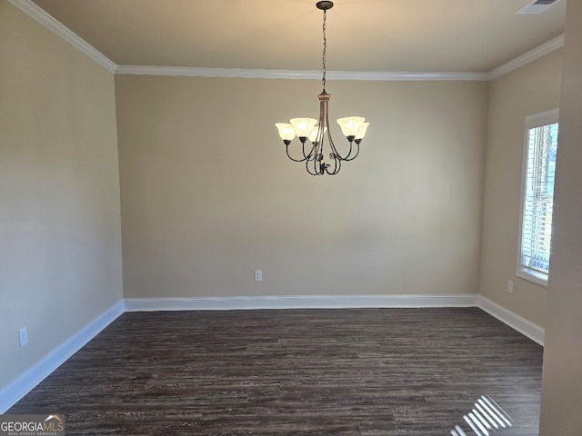
<svg viewBox="0 0 582 436">
<path fill-rule="evenodd" d="M 526 279 L 530 282 L 536 282 L 542 286 L 547 286 L 547 278 L 549 275 L 545 272 L 537 272 L 523 265 L 522 247 L 523 247 L 523 227 L 524 227 L 524 212 L 527 202 L 527 163 L 529 151 L 529 130 L 537 127 L 542 127 L 549 124 L 558 123 L 558 109 L 552 109 L 541 114 L 529 115 L 526 117 L 526 129 L 524 134 L 524 153 L 523 153 L 523 167 L 521 175 L 521 208 L 519 213 L 519 243 L 517 245 L 517 276 Z M 549 262 L 549 259 L 548 259 Z"/>
</svg>

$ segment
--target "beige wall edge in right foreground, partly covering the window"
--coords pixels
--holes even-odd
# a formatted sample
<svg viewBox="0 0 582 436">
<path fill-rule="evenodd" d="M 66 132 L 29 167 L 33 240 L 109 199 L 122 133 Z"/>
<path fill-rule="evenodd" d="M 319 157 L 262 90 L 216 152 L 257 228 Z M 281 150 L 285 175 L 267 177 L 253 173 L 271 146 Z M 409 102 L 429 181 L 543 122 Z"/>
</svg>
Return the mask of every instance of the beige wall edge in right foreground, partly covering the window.
<svg viewBox="0 0 582 436">
<path fill-rule="evenodd" d="M 567 3 L 541 436 L 582 434 L 582 2 Z"/>
</svg>

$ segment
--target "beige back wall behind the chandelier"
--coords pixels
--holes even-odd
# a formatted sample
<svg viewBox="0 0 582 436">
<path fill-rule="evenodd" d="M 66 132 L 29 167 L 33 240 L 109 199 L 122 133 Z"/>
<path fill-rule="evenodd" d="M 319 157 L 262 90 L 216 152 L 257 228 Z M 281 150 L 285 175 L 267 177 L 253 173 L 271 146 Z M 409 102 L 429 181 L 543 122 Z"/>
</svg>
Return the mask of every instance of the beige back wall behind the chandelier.
<svg viewBox="0 0 582 436">
<path fill-rule="evenodd" d="M 487 83 L 328 83 L 331 118 L 372 123 L 335 177 L 274 126 L 316 115 L 317 81 L 115 89 L 125 297 L 478 292 Z"/>
</svg>

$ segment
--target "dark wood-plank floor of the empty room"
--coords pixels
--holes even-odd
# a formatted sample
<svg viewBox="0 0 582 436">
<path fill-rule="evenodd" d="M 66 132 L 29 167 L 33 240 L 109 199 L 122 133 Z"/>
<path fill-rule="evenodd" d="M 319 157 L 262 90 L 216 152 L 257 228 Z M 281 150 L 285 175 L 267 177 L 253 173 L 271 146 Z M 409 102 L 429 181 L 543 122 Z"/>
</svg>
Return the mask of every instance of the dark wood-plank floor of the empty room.
<svg viewBox="0 0 582 436">
<path fill-rule="evenodd" d="M 67 435 L 535 436 L 542 347 L 477 308 L 127 312 L 7 413 Z M 491 433 L 493 434 L 493 433 Z"/>
</svg>

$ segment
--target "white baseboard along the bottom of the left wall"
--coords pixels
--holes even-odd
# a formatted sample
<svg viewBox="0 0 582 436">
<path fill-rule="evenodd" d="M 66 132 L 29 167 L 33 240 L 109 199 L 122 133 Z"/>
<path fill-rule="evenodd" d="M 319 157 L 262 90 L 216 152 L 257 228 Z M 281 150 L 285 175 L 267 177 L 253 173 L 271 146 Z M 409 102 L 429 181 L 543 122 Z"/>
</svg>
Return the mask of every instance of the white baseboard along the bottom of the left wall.
<svg viewBox="0 0 582 436">
<path fill-rule="evenodd" d="M 65 340 L 65 342 L 62 342 L 46 354 L 43 359 L 36 362 L 35 365 L 21 373 L 15 381 L 12 381 L 0 391 L 0 414 L 5 413 L 16 401 L 19 401 L 26 393 L 32 391 L 38 383 L 45 380 L 56 368 L 83 348 L 87 342 L 91 341 L 123 312 L 124 302 L 122 300 L 101 313 L 95 320 Z"/>
</svg>

